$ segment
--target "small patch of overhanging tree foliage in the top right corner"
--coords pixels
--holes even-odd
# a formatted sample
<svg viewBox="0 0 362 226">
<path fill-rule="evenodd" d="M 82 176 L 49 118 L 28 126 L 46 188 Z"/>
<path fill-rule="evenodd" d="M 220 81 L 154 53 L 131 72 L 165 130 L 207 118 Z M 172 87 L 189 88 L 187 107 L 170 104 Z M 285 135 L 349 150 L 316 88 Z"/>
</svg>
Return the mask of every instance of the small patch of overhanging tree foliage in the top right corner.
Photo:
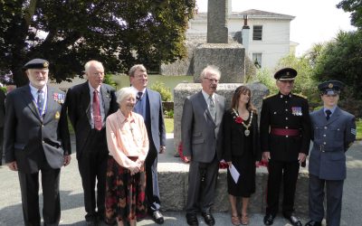
<svg viewBox="0 0 362 226">
<path fill-rule="evenodd" d="M 362 28 L 362 1 L 361 0 L 343 0 L 337 7 L 345 12 L 351 13 L 351 24 Z"/>
</svg>

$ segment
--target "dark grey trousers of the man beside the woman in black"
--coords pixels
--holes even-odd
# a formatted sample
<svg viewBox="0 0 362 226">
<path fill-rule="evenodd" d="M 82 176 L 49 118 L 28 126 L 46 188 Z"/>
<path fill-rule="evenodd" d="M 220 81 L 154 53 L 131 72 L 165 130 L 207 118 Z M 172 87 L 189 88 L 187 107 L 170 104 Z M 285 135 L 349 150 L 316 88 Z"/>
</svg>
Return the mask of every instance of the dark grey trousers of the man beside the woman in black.
<svg viewBox="0 0 362 226">
<path fill-rule="evenodd" d="M 219 161 L 216 157 L 211 163 L 199 163 L 192 160 L 188 172 L 188 191 L 186 213 L 210 212 L 214 204 Z M 202 178 L 204 181 L 202 182 Z"/>
</svg>

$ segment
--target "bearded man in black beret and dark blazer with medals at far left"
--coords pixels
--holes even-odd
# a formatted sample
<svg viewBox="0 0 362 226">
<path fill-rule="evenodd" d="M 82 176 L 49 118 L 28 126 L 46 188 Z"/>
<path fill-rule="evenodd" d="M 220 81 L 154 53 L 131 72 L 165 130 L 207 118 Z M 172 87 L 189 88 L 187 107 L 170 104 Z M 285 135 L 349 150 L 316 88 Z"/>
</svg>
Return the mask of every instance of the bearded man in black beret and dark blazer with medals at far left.
<svg viewBox="0 0 362 226">
<path fill-rule="evenodd" d="M 5 162 L 18 171 L 24 225 L 41 225 L 39 171 L 42 172 L 44 225 L 61 218 L 59 181 L 62 165 L 71 162 L 65 94 L 48 81 L 49 62 L 33 59 L 24 65 L 29 85 L 14 89 L 5 104 Z"/>
</svg>

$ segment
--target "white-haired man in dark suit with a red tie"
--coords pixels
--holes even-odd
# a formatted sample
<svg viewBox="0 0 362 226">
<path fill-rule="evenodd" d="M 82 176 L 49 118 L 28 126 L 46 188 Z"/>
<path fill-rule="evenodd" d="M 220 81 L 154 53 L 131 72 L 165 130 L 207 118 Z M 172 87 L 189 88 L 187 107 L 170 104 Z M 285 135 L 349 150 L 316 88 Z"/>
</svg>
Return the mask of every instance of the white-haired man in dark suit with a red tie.
<svg viewBox="0 0 362 226">
<path fill-rule="evenodd" d="M 68 89 L 66 106 L 75 131 L 78 167 L 88 225 L 104 221 L 107 159 L 106 118 L 118 109 L 115 90 L 103 84 L 100 61 L 85 66 L 88 81 Z M 95 192 L 97 186 L 97 195 Z"/>
</svg>

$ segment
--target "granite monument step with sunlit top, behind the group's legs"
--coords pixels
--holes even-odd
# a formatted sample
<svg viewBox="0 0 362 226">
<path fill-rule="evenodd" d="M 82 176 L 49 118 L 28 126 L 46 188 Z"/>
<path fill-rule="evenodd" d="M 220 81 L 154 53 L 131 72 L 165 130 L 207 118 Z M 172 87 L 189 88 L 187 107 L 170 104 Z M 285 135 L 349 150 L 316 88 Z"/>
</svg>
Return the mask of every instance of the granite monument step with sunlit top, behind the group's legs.
<svg viewBox="0 0 362 226">
<path fill-rule="evenodd" d="M 158 184 L 162 210 L 179 212 L 185 211 L 189 166 L 183 163 L 179 157 L 174 157 L 172 136 L 172 134 L 167 134 L 167 152 L 164 155 L 158 155 Z M 226 169 L 219 170 L 213 207 L 214 212 L 228 212 L 230 208 L 226 174 Z M 249 206 L 251 213 L 265 212 L 267 178 L 268 172 L 266 167 L 258 167 L 256 169 L 256 191 L 251 197 Z M 308 183 L 307 168 L 300 168 L 294 205 L 296 214 L 300 216 L 308 216 Z"/>
</svg>

